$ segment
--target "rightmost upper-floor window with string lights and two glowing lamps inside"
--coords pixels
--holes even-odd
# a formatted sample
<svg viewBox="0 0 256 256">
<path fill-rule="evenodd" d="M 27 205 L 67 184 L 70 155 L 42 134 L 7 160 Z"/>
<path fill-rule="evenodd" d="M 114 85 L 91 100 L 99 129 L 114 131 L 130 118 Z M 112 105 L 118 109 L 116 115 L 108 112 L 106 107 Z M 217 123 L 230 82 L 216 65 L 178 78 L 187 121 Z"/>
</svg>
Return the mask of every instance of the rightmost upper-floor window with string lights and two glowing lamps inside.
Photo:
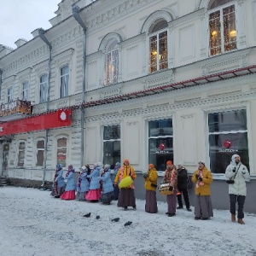
<svg viewBox="0 0 256 256">
<path fill-rule="evenodd" d="M 226 4 L 230 2 L 216 0 L 209 6 L 210 55 L 236 49 L 236 11 L 235 4 Z"/>
</svg>

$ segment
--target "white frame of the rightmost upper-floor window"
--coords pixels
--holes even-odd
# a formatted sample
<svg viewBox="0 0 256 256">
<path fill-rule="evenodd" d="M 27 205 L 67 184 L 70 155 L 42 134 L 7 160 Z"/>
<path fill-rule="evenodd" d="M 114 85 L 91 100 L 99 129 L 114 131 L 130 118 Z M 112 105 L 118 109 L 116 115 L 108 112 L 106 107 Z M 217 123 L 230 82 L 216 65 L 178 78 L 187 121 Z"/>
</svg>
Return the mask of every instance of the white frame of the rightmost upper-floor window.
<svg viewBox="0 0 256 256">
<path fill-rule="evenodd" d="M 234 8 L 235 8 L 234 13 L 235 13 L 235 32 L 236 32 L 236 41 L 235 42 L 236 42 L 236 48 L 230 49 L 230 50 L 225 50 L 224 49 L 225 44 L 224 44 L 224 14 L 223 13 L 224 13 L 225 8 L 228 8 L 228 7 L 231 7 L 231 6 L 234 6 Z M 219 17 L 220 28 L 219 28 L 219 31 L 220 31 L 220 34 L 221 34 L 221 36 L 220 36 L 220 49 L 221 50 L 220 50 L 220 53 L 211 54 L 211 50 L 213 48 L 211 48 L 211 42 L 212 42 L 211 37 L 212 37 L 212 35 L 211 35 L 211 27 L 210 27 L 210 15 L 217 12 L 217 11 L 219 11 L 219 13 L 220 13 L 220 17 Z M 209 56 L 222 55 L 222 54 L 237 50 L 238 49 L 238 39 L 237 38 L 238 38 L 238 33 L 239 32 L 237 31 L 238 30 L 238 24 L 237 24 L 238 23 L 238 21 L 237 21 L 237 16 L 238 15 L 237 15 L 237 5 L 236 5 L 236 3 L 234 1 L 231 1 L 230 3 L 225 3 L 225 4 L 220 5 L 216 8 L 214 8 L 214 9 L 208 9 L 207 15 L 208 15 L 207 16 L 208 55 Z M 232 43 L 230 43 L 230 44 L 232 44 Z"/>
</svg>

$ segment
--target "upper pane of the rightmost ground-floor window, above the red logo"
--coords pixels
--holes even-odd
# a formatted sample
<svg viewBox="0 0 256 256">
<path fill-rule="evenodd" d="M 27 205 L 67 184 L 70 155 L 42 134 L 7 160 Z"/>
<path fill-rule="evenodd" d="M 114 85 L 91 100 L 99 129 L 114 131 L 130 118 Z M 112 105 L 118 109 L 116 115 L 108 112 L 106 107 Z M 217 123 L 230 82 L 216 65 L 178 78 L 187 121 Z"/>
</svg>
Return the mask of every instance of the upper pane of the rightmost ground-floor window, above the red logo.
<svg viewBox="0 0 256 256">
<path fill-rule="evenodd" d="M 247 130 L 246 110 L 209 113 L 208 125 L 209 132 Z"/>
</svg>

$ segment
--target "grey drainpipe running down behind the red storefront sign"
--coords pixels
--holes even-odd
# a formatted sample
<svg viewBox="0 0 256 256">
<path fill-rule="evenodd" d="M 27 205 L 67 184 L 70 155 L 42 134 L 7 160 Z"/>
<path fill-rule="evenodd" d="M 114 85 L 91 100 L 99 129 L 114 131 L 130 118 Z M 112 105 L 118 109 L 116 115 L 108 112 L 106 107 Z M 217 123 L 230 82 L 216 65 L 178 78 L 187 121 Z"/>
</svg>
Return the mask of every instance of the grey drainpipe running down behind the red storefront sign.
<svg viewBox="0 0 256 256">
<path fill-rule="evenodd" d="M 49 111 L 49 90 L 50 90 L 50 67 L 51 67 L 51 52 L 52 52 L 52 46 L 49 43 L 48 39 L 44 35 L 45 31 L 43 28 L 40 28 L 38 30 L 38 36 L 41 38 L 45 44 L 49 47 L 49 62 L 48 62 L 48 88 L 47 88 L 47 100 L 46 100 L 46 111 Z M 48 149 L 48 137 L 49 137 L 49 129 L 46 129 L 45 131 L 45 146 L 44 146 L 44 174 L 43 174 L 43 183 L 41 187 L 44 188 L 45 183 L 45 174 L 46 174 L 46 160 L 47 160 L 47 149 Z"/>
</svg>

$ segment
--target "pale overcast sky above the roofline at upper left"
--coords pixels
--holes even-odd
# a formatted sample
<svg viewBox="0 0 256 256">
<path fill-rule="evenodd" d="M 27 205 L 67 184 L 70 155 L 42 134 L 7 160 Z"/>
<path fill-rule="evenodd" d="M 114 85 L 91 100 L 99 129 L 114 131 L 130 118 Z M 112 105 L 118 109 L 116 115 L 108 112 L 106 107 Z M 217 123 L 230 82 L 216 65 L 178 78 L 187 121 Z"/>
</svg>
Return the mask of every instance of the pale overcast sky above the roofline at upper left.
<svg viewBox="0 0 256 256">
<path fill-rule="evenodd" d="M 51 25 L 61 0 L 0 0 L 0 44 L 16 49 L 20 38 L 32 39 L 31 32 Z"/>
</svg>

